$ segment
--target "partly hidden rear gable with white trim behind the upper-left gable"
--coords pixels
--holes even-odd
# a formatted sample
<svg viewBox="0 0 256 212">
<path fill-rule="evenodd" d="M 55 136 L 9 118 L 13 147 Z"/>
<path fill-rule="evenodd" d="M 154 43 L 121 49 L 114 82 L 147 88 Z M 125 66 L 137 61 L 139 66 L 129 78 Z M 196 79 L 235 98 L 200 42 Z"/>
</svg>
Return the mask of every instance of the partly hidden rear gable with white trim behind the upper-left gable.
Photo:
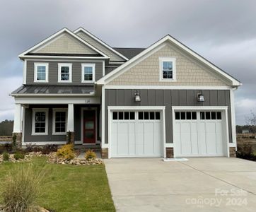
<svg viewBox="0 0 256 212">
<path fill-rule="evenodd" d="M 127 61 L 127 57 L 125 57 L 120 52 L 117 52 L 115 49 L 107 45 L 105 42 L 100 40 L 98 37 L 95 37 L 95 35 L 89 33 L 87 30 L 83 28 L 78 28 L 74 31 L 76 35 L 81 37 L 86 42 L 90 43 L 97 49 L 100 49 L 101 52 L 104 52 L 107 54 L 108 57 L 110 57 L 110 61 Z"/>
</svg>

